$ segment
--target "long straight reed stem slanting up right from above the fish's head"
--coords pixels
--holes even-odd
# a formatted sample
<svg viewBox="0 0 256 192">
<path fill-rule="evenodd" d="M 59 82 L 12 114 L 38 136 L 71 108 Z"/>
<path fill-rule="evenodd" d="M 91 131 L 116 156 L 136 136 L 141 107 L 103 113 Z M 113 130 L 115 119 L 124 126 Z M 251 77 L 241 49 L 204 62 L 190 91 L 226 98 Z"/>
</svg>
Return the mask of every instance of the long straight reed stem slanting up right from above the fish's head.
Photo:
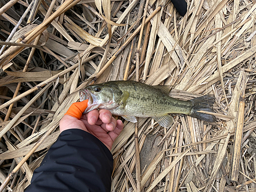
<svg viewBox="0 0 256 192">
<path fill-rule="evenodd" d="M 152 19 L 152 17 L 154 17 L 158 11 L 160 11 L 162 8 L 162 5 L 158 6 L 150 16 L 147 17 L 145 24 L 147 22 L 150 21 L 150 19 Z M 111 65 L 111 63 L 115 60 L 115 58 L 122 52 L 122 50 L 129 44 L 129 42 L 137 35 L 137 33 L 140 31 L 141 25 L 133 32 L 133 34 L 131 36 L 129 36 L 129 38 L 126 39 L 126 41 L 123 43 L 123 45 L 116 51 L 116 53 L 110 58 L 110 60 L 108 62 L 106 62 L 106 64 L 104 65 L 104 67 L 99 71 L 99 73 L 97 73 L 96 77 L 94 77 L 94 79 L 92 80 L 92 83 L 94 83 L 100 75 L 102 75 L 102 73 Z"/>
</svg>

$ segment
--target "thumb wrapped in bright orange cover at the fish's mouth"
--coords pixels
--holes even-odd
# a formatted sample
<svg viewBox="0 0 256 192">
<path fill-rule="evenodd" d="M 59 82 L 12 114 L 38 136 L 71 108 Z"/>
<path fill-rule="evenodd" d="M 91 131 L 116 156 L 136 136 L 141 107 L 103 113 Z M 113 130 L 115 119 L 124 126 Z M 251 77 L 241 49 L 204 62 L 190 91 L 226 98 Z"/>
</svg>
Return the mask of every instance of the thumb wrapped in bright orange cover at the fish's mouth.
<svg viewBox="0 0 256 192">
<path fill-rule="evenodd" d="M 83 100 L 81 102 L 72 103 L 72 105 L 68 109 L 67 113 L 65 113 L 65 115 L 70 115 L 72 117 L 80 119 L 82 116 L 82 113 L 87 108 L 87 103 L 88 103 L 88 99 Z"/>
</svg>

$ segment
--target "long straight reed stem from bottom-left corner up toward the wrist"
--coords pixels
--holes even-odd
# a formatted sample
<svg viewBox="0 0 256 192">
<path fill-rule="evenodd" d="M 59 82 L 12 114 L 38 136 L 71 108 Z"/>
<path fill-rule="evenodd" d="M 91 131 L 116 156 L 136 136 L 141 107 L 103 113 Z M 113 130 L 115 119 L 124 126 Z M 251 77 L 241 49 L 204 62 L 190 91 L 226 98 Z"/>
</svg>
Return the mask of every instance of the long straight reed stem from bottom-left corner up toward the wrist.
<svg viewBox="0 0 256 192">
<path fill-rule="evenodd" d="M 0 186 L 0 192 L 2 192 L 6 185 L 9 183 L 9 181 L 11 180 L 12 176 L 14 176 L 14 174 L 20 169 L 20 167 L 22 167 L 22 165 L 29 159 L 29 157 L 36 151 L 36 149 L 42 144 L 42 142 L 45 141 L 45 139 L 52 133 L 53 130 L 55 130 L 57 127 L 57 125 L 54 125 L 51 127 L 51 129 L 49 129 L 44 136 L 42 136 L 37 143 L 35 144 L 35 146 L 30 150 L 30 152 L 22 159 L 22 161 L 20 161 L 17 166 L 12 170 L 12 172 L 8 175 L 8 177 L 5 179 L 5 181 L 2 183 L 2 185 Z"/>
</svg>

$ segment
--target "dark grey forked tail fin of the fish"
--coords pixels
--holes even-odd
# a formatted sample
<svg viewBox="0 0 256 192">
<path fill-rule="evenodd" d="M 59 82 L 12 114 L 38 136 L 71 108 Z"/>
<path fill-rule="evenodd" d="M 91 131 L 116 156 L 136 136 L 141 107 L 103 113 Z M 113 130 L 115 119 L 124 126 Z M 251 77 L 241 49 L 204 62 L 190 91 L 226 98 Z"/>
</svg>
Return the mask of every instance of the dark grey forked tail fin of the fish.
<svg viewBox="0 0 256 192">
<path fill-rule="evenodd" d="M 214 112 L 210 107 L 214 104 L 214 96 L 213 95 L 204 95 L 202 97 L 198 97 L 195 99 L 191 99 L 192 102 L 192 110 L 190 117 L 195 117 L 208 122 L 215 122 L 216 117 L 214 115 L 209 115 L 205 113 L 200 113 L 198 111 L 206 111 L 206 112 Z"/>
</svg>

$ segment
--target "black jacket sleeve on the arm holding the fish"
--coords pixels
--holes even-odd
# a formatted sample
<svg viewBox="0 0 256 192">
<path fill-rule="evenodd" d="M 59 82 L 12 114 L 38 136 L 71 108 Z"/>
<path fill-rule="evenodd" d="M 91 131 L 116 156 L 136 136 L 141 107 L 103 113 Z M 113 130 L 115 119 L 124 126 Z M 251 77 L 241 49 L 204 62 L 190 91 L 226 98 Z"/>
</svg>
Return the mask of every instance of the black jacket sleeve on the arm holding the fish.
<svg viewBox="0 0 256 192">
<path fill-rule="evenodd" d="M 82 130 L 63 131 L 35 169 L 30 191 L 110 191 L 113 156 Z"/>
</svg>

